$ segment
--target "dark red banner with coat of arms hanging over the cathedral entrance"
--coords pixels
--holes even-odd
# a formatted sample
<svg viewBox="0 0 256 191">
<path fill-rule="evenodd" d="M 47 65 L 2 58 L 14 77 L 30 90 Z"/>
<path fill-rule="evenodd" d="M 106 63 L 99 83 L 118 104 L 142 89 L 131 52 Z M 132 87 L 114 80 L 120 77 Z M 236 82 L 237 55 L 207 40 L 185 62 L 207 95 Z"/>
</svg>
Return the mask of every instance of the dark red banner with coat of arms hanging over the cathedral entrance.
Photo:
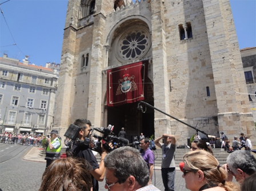
<svg viewBox="0 0 256 191">
<path fill-rule="evenodd" d="M 144 100 L 148 61 L 107 70 L 107 105 L 117 106 Z"/>
</svg>

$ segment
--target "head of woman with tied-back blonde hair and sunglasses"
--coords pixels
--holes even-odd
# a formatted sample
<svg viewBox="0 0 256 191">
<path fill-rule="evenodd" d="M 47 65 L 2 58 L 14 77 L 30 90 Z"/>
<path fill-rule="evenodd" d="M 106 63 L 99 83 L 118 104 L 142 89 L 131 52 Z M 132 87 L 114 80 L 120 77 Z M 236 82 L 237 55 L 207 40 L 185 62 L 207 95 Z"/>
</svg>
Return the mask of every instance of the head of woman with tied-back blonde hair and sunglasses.
<svg viewBox="0 0 256 191">
<path fill-rule="evenodd" d="M 183 156 L 182 169 L 186 188 L 199 190 L 203 185 L 221 186 L 226 190 L 236 190 L 233 183 L 226 182 L 227 174 L 211 153 L 199 150 L 191 151 Z"/>
</svg>

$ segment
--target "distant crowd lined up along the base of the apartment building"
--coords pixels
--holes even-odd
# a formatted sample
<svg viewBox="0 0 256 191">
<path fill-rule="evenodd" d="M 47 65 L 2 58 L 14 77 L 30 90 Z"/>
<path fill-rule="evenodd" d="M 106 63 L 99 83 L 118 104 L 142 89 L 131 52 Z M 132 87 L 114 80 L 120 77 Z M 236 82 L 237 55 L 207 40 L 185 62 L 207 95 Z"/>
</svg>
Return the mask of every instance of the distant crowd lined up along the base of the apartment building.
<svg viewBox="0 0 256 191">
<path fill-rule="evenodd" d="M 1 143 L 30 145 L 33 147 L 42 147 L 42 136 L 40 133 L 14 133 L 3 132 L 0 135 Z"/>
</svg>

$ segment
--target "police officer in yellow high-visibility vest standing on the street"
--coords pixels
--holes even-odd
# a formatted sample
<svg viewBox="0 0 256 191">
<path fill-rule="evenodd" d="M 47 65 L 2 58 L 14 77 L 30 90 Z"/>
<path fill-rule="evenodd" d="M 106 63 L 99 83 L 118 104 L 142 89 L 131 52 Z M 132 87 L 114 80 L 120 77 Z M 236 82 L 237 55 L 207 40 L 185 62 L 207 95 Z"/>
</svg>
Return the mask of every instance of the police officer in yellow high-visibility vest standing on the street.
<svg viewBox="0 0 256 191">
<path fill-rule="evenodd" d="M 58 131 L 52 130 L 51 137 L 47 139 L 48 146 L 46 149 L 46 168 L 53 162 L 53 160 L 61 158 L 61 140 L 58 139 Z"/>
</svg>

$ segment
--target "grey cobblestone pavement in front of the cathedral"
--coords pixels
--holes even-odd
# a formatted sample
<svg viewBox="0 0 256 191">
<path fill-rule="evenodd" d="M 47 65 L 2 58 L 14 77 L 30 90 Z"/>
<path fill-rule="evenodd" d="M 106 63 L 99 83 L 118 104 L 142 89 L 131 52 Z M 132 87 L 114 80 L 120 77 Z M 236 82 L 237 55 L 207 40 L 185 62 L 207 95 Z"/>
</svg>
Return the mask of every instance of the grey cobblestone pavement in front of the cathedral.
<svg viewBox="0 0 256 191">
<path fill-rule="evenodd" d="M 2 146 L 2 145 L 1 145 Z M 45 162 L 38 157 L 38 148 L 29 146 L 23 152 L 19 153 L 13 159 L 0 163 L 0 188 L 3 191 L 35 191 L 41 185 L 42 174 L 45 171 Z M 7 145 L 6 145 L 7 148 Z M 37 159 L 38 157 L 38 159 Z M 29 158 L 31 160 L 29 160 Z M 23 160 L 26 159 L 26 160 Z M 161 170 L 155 170 L 153 175 L 153 184 L 159 190 L 164 190 L 162 184 Z M 99 182 L 99 190 L 104 188 L 105 181 Z M 182 178 L 182 172 L 176 171 L 175 190 L 186 191 L 185 180 Z"/>
</svg>

